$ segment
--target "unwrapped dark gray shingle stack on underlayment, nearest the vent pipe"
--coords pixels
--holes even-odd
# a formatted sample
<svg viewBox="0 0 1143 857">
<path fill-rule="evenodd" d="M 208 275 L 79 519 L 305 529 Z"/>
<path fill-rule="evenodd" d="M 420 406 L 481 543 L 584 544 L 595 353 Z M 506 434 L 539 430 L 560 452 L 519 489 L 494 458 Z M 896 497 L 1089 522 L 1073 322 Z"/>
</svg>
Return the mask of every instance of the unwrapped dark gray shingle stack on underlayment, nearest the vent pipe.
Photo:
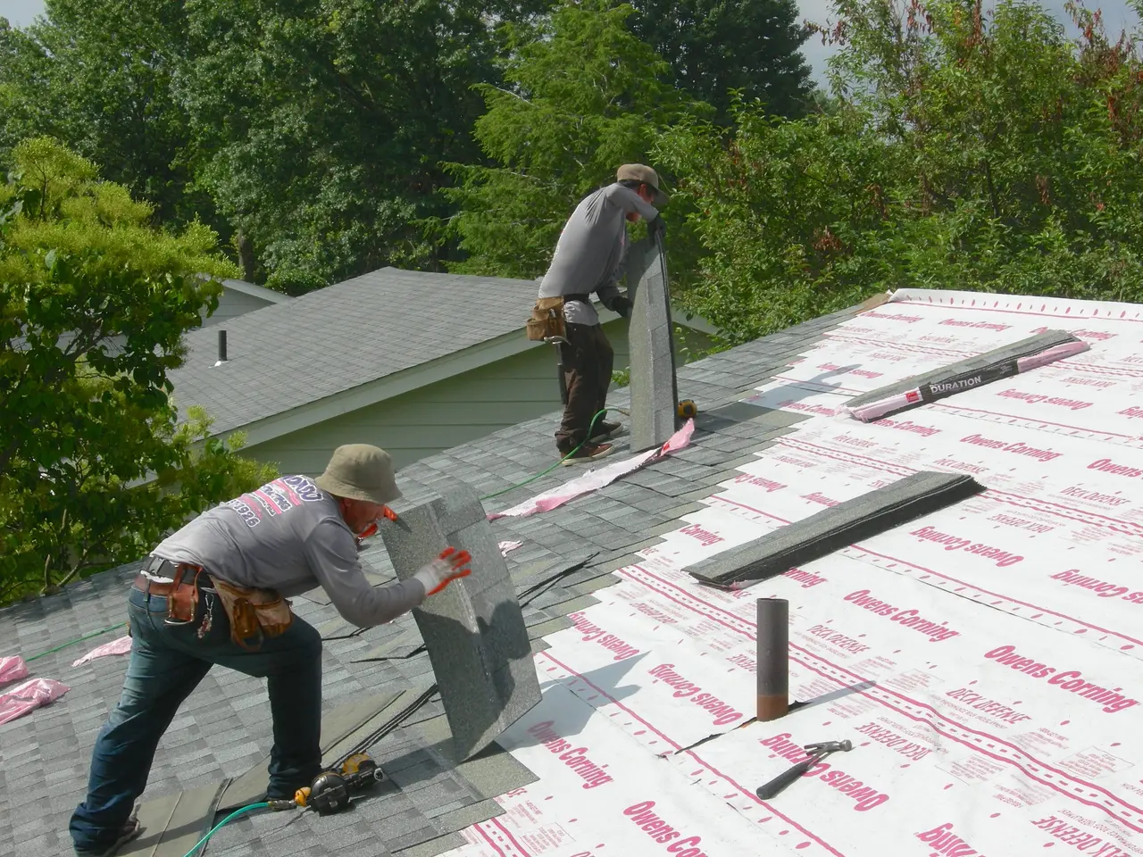
<svg viewBox="0 0 1143 857">
<path fill-rule="evenodd" d="M 687 572 L 717 586 L 765 580 L 983 490 L 972 476 L 921 471 L 705 559 Z"/>
</svg>

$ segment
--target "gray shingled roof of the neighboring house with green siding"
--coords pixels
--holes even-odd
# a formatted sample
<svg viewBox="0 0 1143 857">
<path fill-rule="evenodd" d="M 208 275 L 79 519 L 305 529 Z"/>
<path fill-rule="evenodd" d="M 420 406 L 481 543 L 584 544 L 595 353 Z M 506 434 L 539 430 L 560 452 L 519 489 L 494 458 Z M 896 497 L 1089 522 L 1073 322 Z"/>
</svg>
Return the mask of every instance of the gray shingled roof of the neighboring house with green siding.
<svg viewBox="0 0 1143 857">
<path fill-rule="evenodd" d="M 222 366 L 217 329 L 190 331 L 176 405 L 223 434 L 505 335 L 520 351 L 535 297 L 530 280 L 374 271 L 226 321 Z"/>
</svg>

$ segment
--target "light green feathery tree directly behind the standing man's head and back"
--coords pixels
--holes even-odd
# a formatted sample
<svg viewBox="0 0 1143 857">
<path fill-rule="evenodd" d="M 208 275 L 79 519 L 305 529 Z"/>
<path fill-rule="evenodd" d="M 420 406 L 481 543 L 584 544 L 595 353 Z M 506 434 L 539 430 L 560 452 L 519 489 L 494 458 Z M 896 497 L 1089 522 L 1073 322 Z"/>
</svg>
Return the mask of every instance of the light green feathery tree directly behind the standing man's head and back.
<svg viewBox="0 0 1143 857">
<path fill-rule="evenodd" d="M 583 197 L 613 182 L 621 163 L 647 162 L 672 122 L 709 114 L 668 82 L 668 65 L 628 30 L 633 11 L 569 0 L 550 18 L 510 30 L 504 86 L 478 87 L 487 112 L 475 137 L 494 166 L 448 165 L 458 179 L 442 191 L 458 209 L 449 234 L 466 254 L 451 270 L 542 274 Z M 672 216 L 677 208 L 672 202 Z M 672 233 L 674 251 L 688 246 L 684 232 Z"/>
</svg>

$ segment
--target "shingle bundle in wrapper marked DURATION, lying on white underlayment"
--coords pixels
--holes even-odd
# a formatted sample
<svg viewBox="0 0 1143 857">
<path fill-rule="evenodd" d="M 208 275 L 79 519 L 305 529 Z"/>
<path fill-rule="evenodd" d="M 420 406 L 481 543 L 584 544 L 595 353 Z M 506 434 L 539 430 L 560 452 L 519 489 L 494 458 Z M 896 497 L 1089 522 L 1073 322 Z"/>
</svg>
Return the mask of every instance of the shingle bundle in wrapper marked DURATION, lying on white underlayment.
<svg viewBox="0 0 1143 857">
<path fill-rule="evenodd" d="M 950 366 L 914 375 L 896 384 L 863 393 L 849 400 L 846 410 L 863 423 L 917 408 L 926 402 L 956 395 L 966 390 L 1010 378 L 1013 375 L 1074 357 L 1090 346 L 1065 330 L 1048 330 L 1012 345 L 977 354 Z"/>
</svg>

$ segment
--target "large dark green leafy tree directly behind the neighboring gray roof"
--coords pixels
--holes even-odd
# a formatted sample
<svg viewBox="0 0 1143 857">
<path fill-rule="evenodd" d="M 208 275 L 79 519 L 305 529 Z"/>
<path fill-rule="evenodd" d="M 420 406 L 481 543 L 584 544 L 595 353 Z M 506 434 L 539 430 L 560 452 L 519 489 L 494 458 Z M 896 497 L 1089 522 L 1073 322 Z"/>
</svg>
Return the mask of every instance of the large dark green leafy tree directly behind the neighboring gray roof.
<svg viewBox="0 0 1143 857">
<path fill-rule="evenodd" d="M 539 2 L 190 0 L 178 88 L 201 173 L 266 283 L 291 293 L 384 265 L 432 267 L 441 161 L 479 155 L 472 85 L 496 22 Z"/>
</svg>

